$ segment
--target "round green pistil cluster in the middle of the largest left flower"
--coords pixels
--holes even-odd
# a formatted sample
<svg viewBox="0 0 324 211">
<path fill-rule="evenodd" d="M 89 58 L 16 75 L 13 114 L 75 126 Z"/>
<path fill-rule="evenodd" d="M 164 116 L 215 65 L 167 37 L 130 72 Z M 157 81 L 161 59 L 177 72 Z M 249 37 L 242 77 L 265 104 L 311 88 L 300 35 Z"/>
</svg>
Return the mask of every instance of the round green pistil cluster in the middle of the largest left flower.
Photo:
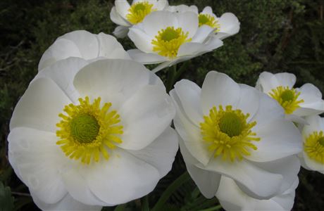
<svg viewBox="0 0 324 211">
<path fill-rule="evenodd" d="M 70 122 L 71 135 L 79 143 L 92 143 L 98 136 L 100 126 L 96 118 L 89 114 L 80 114 Z"/>
</svg>

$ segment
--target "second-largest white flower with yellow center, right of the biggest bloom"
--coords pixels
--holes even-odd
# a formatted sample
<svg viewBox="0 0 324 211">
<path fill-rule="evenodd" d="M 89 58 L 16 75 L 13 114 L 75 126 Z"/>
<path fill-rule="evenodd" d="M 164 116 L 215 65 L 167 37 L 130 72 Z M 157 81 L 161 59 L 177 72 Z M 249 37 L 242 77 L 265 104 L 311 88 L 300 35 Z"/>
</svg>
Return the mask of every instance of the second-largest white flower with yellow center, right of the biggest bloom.
<svg viewBox="0 0 324 211">
<path fill-rule="evenodd" d="M 301 134 L 276 101 L 211 71 L 202 88 L 182 79 L 170 91 L 187 170 L 206 198 L 228 177 L 257 199 L 287 191 L 299 172 Z"/>
</svg>

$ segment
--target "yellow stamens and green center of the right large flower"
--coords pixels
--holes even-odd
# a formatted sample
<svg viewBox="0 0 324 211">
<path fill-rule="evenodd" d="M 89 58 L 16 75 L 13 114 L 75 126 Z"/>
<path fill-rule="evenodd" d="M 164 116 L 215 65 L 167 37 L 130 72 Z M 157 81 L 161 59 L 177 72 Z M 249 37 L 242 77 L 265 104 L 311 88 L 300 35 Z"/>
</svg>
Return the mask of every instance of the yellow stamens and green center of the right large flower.
<svg viewBox="0 0 324 211">
<path fill-rule="evenodd" d="M 257 147 L 251 141 L 260 141 L 251 129 L 256 122 L 247 122 L 249 113 L 232 110 L 232 106 L 215 106 L 211 108 L 204 122 L 200 123 L 201 135 L 208 150 L 214 157 L 222 156 L 223 160 L 242 160 L 244 155 L 251 155 L 251 149 Z"/>
</svg>

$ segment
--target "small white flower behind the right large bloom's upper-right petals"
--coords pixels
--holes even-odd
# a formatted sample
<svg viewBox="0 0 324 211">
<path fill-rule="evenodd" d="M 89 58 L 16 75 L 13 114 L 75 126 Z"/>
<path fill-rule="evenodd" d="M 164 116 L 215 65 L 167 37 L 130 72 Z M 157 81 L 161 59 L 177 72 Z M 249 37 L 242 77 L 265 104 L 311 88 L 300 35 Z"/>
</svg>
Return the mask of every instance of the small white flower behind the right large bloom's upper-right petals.
<svg viewBox="0 0 324 211">
<path fill-rule="evenodd" d="M 256 82 L 256 89 L 278 101 L 284 108 L 287 119 L 306 123 L 300 117 L 323 113 L 324 101 L 320 90 L 313 84 L 304 84 L 294 89 L 295 82 L 296 76 L 292 73 L 262 72 Z"/>
</svg>

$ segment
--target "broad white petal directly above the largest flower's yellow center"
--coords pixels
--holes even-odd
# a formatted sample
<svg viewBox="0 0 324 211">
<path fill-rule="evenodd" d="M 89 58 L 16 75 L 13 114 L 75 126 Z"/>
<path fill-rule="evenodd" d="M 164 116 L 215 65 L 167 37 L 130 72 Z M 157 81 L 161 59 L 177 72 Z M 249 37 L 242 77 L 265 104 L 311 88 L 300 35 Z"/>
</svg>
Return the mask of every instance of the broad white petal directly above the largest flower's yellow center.
<svg viewBox="0 0 324 211">
<path fill-rule="evenodd" d="M 147 84 L 159 80 L 144 65 L 132 60 L 97 60 L 82 68 L 74 85 L 82 96 L 101 97 L 117 109 Z"/>
</svg>

